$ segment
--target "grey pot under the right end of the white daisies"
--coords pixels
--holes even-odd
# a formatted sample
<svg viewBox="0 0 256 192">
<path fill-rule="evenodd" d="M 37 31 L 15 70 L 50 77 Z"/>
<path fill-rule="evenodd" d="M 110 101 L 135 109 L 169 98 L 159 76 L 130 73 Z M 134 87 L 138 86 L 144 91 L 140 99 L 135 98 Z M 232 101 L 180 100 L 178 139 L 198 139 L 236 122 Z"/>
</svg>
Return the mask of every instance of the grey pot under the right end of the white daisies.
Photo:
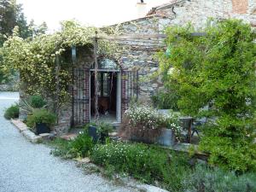
<svg viewBox="0 0 256 192">
<path fill-rule="evenodd" d="M 175 133 L 170 129 L 163 128 L 160 137 L 156 140 L 157 143 L 164 146 L 173 146 L 175 144 Z"/>
</svg>

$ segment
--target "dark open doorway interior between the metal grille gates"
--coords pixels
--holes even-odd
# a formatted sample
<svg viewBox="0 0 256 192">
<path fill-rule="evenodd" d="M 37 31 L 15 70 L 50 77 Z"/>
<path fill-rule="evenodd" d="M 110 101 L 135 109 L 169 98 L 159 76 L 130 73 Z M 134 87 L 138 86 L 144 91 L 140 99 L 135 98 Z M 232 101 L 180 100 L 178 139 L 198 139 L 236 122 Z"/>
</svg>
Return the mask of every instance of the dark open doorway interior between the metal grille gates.
<svg viewBox="0 0 256 192">
<path fill-rule="evenodd" d="M 98 111 L 100 121 L 113 123 L 119 121 L 119 72 L 99 71 Z M 90 72 L 90 121 L 95 119 L 95 72 Z"/>
</svg>

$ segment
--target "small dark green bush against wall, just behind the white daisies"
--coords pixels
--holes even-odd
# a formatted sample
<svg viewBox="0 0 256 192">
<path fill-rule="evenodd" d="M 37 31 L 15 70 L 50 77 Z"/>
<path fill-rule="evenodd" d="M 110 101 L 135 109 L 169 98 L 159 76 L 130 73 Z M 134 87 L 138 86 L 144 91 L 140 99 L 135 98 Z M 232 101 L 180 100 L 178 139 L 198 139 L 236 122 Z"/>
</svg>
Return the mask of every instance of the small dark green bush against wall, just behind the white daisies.
<svg viewBox="0 0 256 192">
<path fill-rule="evenodd" d="M 152 101 L 154 106 L 159 109 L 172 109 L 174 111 L 178 110 L 177 101 L 179 96 L 175 90 L 170 90 L 168 92 L 159 91 L 154 96 L 152 96 Z"/>
</svg>

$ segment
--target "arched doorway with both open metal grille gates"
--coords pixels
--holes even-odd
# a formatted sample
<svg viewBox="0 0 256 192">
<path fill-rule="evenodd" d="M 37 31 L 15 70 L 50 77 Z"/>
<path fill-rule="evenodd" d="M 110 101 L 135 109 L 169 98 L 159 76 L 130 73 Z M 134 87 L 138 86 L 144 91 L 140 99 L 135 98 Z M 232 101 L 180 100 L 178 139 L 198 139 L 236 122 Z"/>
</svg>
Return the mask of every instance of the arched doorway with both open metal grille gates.
<svg viewBox="0 0 256 192">
<path fill-rule="evenodd" d="M 102 58 L 98 62 L 98 110 L 100 121 L 118 125 L 129 103 L 137 100 L 138 71 L 124 70 L 116 61 Z M 95 121 L 95 69 L 73 69 L 72 125 Z"/>
</svg>

